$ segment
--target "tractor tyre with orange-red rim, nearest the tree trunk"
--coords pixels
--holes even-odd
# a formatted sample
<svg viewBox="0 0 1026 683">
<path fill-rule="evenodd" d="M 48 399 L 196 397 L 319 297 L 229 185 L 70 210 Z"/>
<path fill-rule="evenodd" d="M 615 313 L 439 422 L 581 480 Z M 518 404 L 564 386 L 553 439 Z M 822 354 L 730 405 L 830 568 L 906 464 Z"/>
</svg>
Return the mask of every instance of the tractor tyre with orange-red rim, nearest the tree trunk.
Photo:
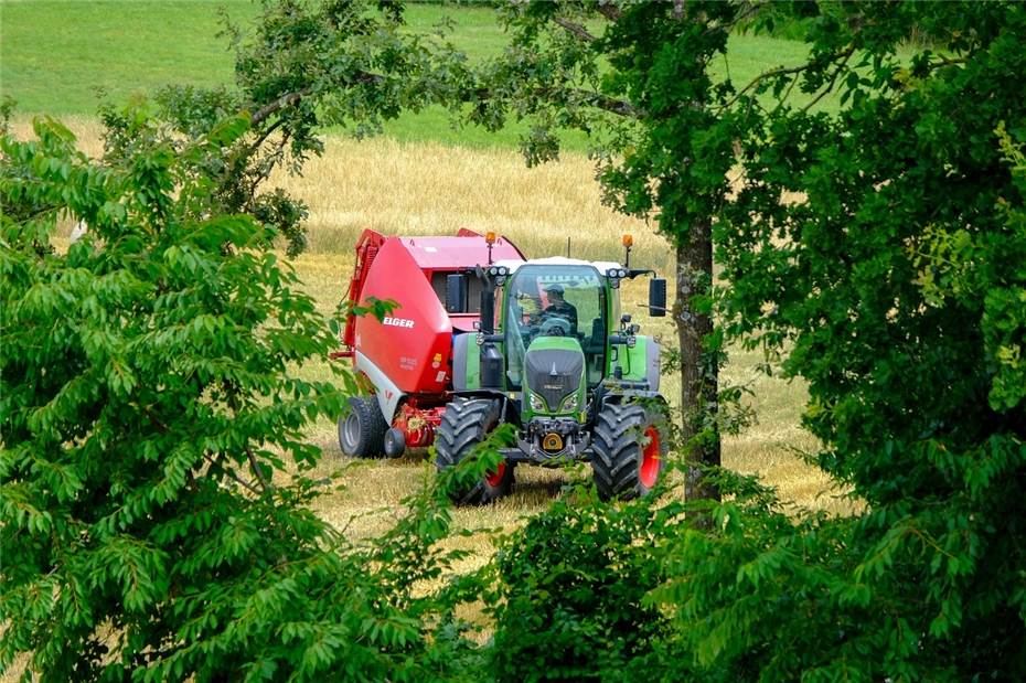
<svg viewBox="0 0 1026 683">
<path fill-rule="evenodd" d="M 609 403 L 591 440 L 591 472 L 599 498 L 646 495 L 659 481 L 670 445 L 659 413 L 635 403 Z"/>
</svg>

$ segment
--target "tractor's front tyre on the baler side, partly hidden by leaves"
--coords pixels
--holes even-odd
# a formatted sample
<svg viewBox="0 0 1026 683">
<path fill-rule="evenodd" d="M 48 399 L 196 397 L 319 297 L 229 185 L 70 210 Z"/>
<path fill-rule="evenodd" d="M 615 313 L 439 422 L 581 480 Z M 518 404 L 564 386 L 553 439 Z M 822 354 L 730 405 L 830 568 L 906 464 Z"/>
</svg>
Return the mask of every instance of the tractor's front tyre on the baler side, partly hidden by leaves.
<svg viewBox="0 0 1026 683">
<path fill-rule="evenodd" d="M 439 471 L 456 467 L 488 436 L 499 421 L 495 402 L 458 398 L 446 407 L 435 430 L 435 466 Z M 503 461 L 499 471 L 482 477 L 467 490 L 449 491 L 457 505 L 484 505 L 510 493 L 513 463 Z"/>
</svg>

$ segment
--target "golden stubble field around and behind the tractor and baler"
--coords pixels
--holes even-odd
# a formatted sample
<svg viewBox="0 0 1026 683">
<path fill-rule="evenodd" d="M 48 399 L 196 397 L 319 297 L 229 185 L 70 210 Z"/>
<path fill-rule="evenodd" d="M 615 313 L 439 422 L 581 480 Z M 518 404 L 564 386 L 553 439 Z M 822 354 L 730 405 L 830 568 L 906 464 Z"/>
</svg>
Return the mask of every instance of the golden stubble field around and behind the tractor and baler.
<svg viewBox="0 0 1026 683">
<path fill-rule="evenodd" d="M 71 120 L 81 147 L 89 154 L 101 151 L 99 127 L 88 119 Z M 20 122 L 15 131 L 25 137 L 30 128 Z M 321 158 L 311 160 L 302 177 L 279 174 L 272 182 L 302 198 L 310 206 L 310 248 L 297 258 L 295 268 L 306 290 L 324 314 L 330 314 L 345 294 L 353 267 L 353 245 L 367 227 L 384 234 L 451 234 L 459 227 L 479 232 L 493 230 L 510 237 L 531 257 L 565 254 L 570 237 L 575 257 L 619 259 L 623 233 L 634 236 L 635 265 L 652 266 L 669 276 L 672 257 L 667 243 L 654 226 L 628 218 L 601 205 L 600 189 L 591 163 L 567 156 L 558 163 L 525 168 L 513 150 L 471 150 L 438 145 L 400 145 L 391 139 L 354 141 L 330 138 Z M 673 292 L 671 291 L 671 297 Z M 642 333 L 672 344 L 675 335 L 667 318 L 649 319 L 641 308 L 646 296 L 643 281 L 623 288 L 624 310 L 635 310 Z M 803 462 L 800 453 L 813 451 L 815 441 L 799 426 L 806 394 L 800 382 L 785 382 L 757 372 L 758 352 L 735 350 L 723 380 L 745 384 L 757 424 L 744 435 L 724 441 L 724 463 L 759 474 L 790 503 L 849 510 L 849 503 L 830 489 L 817 469 Z M 328 361 L 300 372 L 306 376 L 330 376 Z M 677 403 L 680 383 L 664 377 L 663 393 Z M 368 537 L 387 529 L 402 513 L 404 498 L 431 476 L 427 452 L 398 460 L 352 461 L 339 449 L 336 427 L 320 420 L 309 429 L 311 441 L 323 450 L 317 477 L 341 470 L 344 488 L 322 498 L 318 512 L 354 537 Z M 513 494 L 483 509 L 456 512 L 456 523 L 466 530 L 509 530 L 526 515 L 542 510 L 573 474 L 560 470 L 519 467 Z M 487 561 L 491 553 L 488 534 L 460 538 L 459 545 L 474 551 L 468 568 Z"/>
</svg>

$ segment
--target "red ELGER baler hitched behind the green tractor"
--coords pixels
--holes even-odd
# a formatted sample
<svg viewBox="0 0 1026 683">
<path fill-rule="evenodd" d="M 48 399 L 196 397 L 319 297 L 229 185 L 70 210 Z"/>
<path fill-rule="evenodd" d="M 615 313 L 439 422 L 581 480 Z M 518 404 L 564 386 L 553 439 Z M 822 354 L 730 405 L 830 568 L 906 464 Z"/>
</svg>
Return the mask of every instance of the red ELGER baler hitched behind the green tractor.
<svg viewBox="0 0 1026 683">
<path fill-rule="evenodd" d="M 491 237 L 491 235 L 490 235 Z M 370 298 L 397 307 L 383 320 L 350 316 L 342 350 L 373 386 L 351 401 L 339 420 L 339 442 L 351 456 L 398 456 L 406 447 L 431 444 L 452 391 L 452 340 L 474 331 L 480 280 L 475 266 L 523 260 L 504 238 L 460 230 L 455 237 L 385 237 L 366 230 L 356 243 L 356 265 L 348 300 Z M 447 307 L 449 276 L 463 276 L 462 300 Z"/>
</svg>

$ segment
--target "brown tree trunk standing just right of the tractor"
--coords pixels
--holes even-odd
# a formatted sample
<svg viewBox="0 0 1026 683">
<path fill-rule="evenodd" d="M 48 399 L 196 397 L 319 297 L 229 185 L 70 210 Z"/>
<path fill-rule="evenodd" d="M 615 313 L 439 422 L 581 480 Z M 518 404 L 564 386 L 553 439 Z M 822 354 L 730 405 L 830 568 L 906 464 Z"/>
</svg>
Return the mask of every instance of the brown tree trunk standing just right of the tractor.
<svg viewBox="0 0 1026 683">
<path fill-rule="evenodd" d="M 694 224 L 676 245 L 677 298 L 673 318 L 681 346 L 681 409 L 685 448 L 690 450 L 686 500 L 716 499 L 719 491 L 697 466 L 719 466 L 716 426 L 718 362 L 703 352 L 702 340 L 713 332 L 713 319 L 698 312 L 696 298 L 707 296 L 713 282 L 713 228 L 704 220 Z M 708 307 L 703 307 L 708 309 Z"/>
</svg>

